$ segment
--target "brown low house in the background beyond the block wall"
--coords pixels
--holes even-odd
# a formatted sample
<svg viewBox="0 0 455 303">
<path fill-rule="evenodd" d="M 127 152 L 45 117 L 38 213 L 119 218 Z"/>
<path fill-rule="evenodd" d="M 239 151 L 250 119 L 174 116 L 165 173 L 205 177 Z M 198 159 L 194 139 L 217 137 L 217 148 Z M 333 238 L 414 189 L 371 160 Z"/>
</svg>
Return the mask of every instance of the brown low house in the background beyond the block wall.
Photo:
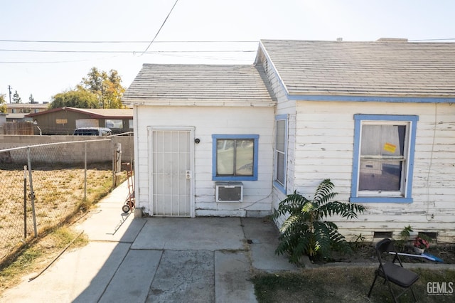
<svg viewBox="0 0 455 303">
<path fill-rule="evenodd" d="M 73 134 L 77 127 L 108 127 L 114 134 L 132 132 L 132 109 L 59 107 L 26 115 L 36 124 L 36 134 Z M 39 129 L 38 129 L 39 127 Z"/>
</svg>

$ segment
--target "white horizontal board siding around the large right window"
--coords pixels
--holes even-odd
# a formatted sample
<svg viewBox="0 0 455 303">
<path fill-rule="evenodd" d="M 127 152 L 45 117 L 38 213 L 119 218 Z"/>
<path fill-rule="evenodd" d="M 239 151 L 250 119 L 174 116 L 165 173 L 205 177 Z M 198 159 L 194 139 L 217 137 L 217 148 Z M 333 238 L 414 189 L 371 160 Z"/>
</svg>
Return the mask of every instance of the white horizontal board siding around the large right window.
<svg viewBox="0 0 455 303">
<path fill-rule="evenodd" d="M 296 103 L 296 190 L 311 198 L 323 179 L 335 184 L 338 201 L 349 201 L 355 114 L 417 115 L 412 198 L 405 203 L 364 203 L 358 220 L 332 218 L 348 239 L 375 231 L 414 230 L 438 233 L 455 242 L 455 105 L 385 102 Z M 289 178 L 289 176 L 288 176 Z M 277 201 L 274 201 L 274 206 Z"/>
</svg>

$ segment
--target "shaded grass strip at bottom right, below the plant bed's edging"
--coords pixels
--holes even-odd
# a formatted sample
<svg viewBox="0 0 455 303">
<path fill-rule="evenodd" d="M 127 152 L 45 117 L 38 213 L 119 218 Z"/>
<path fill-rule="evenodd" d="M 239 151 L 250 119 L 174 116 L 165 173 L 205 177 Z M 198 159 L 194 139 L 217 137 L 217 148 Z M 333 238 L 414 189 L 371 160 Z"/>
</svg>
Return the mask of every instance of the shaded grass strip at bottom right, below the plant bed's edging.
<svg viewBox="0 0 455 303">
<path fill-rule="evenodd" d="M 272 302 L 393 302 L 387 285 L 376 282 L 371 297 L 367 294 L 375 268 L 319 267 L 299 273 L 264 274 L 253 279 L 259 303 Z M 455 282 L 454 270 L 415 270 L 419 280 L 414 285 L 418 302 L 454 302 L 455 294 L 432 295 L 428 282 Z M 399 289 L 395 289 L 397 291 Z M 397 293 L 397 292 L 395 292 Z M 407 292 L 399 302 L 413 302 Z"/>
</svg>

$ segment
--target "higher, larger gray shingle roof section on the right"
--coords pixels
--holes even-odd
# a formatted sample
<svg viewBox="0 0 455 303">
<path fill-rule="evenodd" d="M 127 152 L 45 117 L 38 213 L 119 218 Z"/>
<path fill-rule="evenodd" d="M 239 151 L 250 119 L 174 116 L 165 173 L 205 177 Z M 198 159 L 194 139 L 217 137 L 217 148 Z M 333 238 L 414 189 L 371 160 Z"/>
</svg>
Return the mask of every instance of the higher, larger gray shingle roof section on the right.
<svg viewBox="0 0 455 303">
<path fill-rule="evenodd" d="M 455 97 L 455 43 L 261 43 L 289 95 Z"/>
</svg>

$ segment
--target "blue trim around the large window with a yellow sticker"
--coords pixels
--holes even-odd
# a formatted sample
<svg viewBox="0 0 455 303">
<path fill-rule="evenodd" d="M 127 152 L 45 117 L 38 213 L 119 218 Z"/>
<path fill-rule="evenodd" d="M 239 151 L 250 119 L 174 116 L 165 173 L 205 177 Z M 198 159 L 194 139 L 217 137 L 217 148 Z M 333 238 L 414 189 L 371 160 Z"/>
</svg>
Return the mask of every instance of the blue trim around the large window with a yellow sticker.
<svg viewBox="0 0 455 303">
<path fill-rule="evenodd" d="M 397 121 L 410 122 L 410 149 L 408 155 L 407 176 L 405 176 L 404 197 L 382 197 L 382 196 L 358 196 L 358 170 L 360 163 L 360 129 L 363 121 Z M 350 188 L 350 202 L 361 203 L 412 203 L 412 176 L 414 173 L 414 149 L 417 133 L 418 116 L 414 115 L 354 115 L 354 155 L 353 155 L 353 176 Z"/>
</svg>

